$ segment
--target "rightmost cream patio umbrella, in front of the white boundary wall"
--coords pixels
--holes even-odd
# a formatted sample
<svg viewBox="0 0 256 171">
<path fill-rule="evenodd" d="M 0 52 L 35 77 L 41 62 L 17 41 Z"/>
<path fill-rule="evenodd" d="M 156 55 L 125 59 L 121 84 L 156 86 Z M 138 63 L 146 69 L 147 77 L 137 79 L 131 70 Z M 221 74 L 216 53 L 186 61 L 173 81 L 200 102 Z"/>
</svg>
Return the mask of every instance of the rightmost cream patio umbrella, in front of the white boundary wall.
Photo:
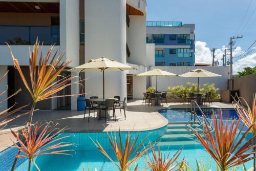
<svg viewBox="0 0 256 171">
<path fill-rule="evenodd" d="M 185 74 L 181 74 L 179 75 L 179 77 L 190 77 L 190 78 L 197 78 L 197 92 L 199 92 L 199 77 L 220 77 L 221 75 L 219 74 L 215 74 L 212 72 L 209 72 L 207 70 L 203 70 L 203 69 L 195 69 L 195 70 L 191 70 Z"/>
</svg>

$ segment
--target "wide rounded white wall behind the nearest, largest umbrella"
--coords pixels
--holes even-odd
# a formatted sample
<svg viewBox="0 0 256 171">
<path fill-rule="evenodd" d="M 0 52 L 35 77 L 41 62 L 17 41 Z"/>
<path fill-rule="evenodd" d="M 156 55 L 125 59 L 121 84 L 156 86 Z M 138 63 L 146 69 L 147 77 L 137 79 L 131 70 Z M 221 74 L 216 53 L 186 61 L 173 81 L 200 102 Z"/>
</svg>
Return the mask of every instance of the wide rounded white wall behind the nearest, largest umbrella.
<svg viewBox="0 0 256 171">
<path fill-rule="evenodd" d="M 84 1 L 85 61 L 102 56 L 126 63 L 125 0 Z M 86 73 L 86 96 L 103 96 L 102 73 Z M 126 73 L 105 72 L 105 97 L 126 97 Z"/>
</svg>

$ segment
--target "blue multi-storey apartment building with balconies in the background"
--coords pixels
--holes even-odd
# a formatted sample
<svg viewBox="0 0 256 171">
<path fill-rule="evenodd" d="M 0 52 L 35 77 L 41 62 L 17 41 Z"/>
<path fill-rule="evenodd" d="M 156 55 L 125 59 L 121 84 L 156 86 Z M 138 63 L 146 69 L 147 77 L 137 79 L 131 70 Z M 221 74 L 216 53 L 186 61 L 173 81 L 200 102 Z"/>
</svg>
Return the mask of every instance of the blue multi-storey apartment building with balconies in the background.
<svg viewBox="0 0 256 171">
<path fill-rule="evenodd" d="M 146 22 L 146 42 L 155 44 L 155 66 L 195 66 L 195 24 Z"/>
</svg>

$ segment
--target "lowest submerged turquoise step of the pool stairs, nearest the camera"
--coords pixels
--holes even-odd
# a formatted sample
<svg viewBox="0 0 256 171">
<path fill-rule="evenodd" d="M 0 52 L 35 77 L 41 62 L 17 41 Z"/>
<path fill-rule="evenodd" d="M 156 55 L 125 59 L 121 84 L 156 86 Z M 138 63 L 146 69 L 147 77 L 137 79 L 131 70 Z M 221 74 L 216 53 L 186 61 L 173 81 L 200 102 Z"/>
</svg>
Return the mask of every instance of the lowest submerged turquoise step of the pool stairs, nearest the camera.
<svg viewBox="0 0 256 171">
<path fill-rule="evenodd" d="M 201 143 L 197 140 L 189 140 L 189 141 L 163 141 L 159 142 L 160 148 L 168 148 L 168 149 L 177 149 L 177 148 L 195 148 L 201 147 Z"/>
</svg>

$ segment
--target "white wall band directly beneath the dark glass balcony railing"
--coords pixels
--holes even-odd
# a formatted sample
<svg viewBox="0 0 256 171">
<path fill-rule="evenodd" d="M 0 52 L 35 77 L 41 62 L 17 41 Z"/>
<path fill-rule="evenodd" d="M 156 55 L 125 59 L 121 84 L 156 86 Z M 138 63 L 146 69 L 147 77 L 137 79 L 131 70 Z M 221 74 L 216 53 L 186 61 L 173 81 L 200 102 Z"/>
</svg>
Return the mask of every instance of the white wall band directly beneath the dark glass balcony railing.
<svg viewBox="0 0 256 171">
<path fill-rule="evenodd" d="M 18 59 L 19 65 L 28 66 L 29 65 L 29 47 L 32 52 L 33 45 L 10 45 L 10 47 L 14 57 Z M 44 45 L 44 47 L 42 48 L 42 54 L 46 54 L 49 48 L 50 46 Z M 59 49 L 59 46 L 55 46 L 54 52 L 55 50 L 58 50 L 58 49 Z M 40 54 L 40 51 L 41 51 L 41 47 L 39 47 L 38 55 Z M 13 66 L 12 57 L 7 45 L 0 45 L 0 65 Z"/>
</svg>

